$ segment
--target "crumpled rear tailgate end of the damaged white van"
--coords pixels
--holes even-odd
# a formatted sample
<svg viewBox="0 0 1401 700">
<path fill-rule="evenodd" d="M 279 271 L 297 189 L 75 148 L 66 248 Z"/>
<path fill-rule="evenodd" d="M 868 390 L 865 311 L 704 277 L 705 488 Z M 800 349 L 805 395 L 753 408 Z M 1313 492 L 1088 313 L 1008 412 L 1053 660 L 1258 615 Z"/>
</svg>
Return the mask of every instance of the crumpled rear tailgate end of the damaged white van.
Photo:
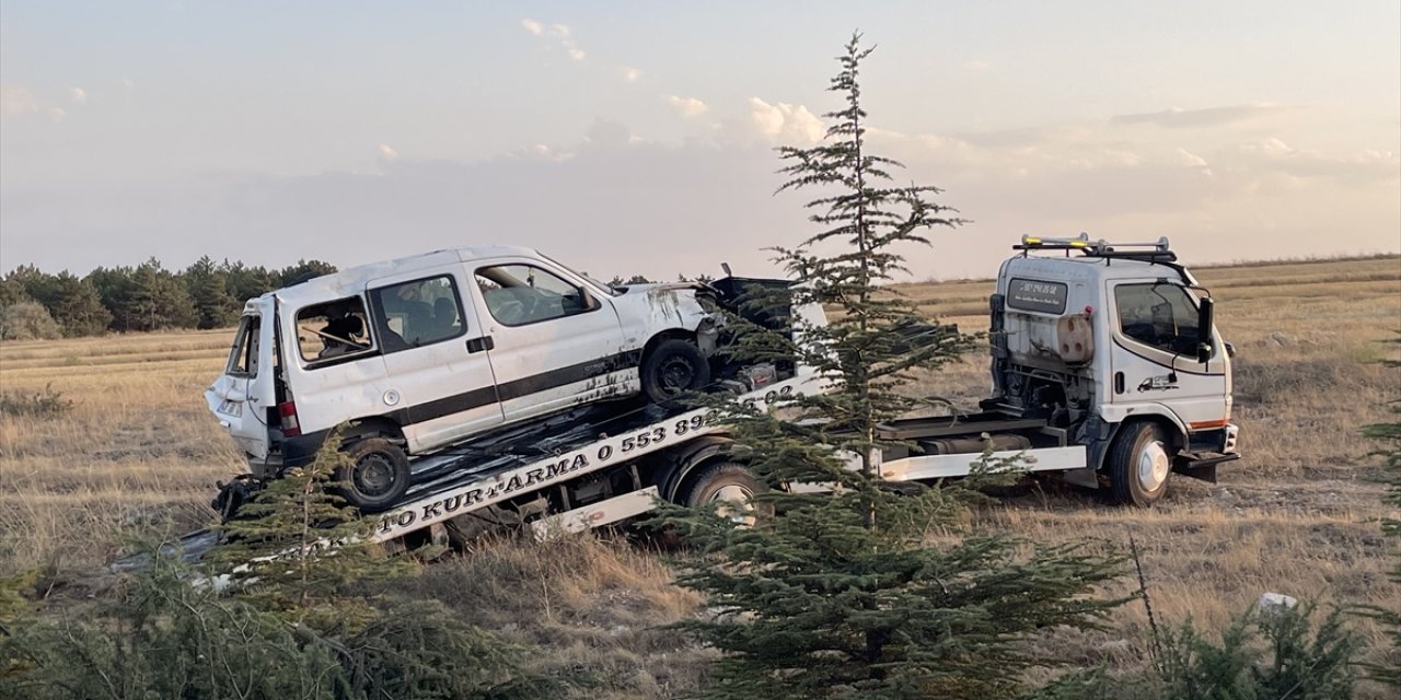
<svg viewBox="0 0 1401 700">
<path fill-rule="evenodd" d="M 244 309 L 228 353 L 224 374 L 205 391 L 205 400 L 233 435 L 240 449 L 256 459 L 268 458 L 269 414 L 277 409 L 273 360 L 276 311 L 272 297 L 252 300 Z"/>
</svg>

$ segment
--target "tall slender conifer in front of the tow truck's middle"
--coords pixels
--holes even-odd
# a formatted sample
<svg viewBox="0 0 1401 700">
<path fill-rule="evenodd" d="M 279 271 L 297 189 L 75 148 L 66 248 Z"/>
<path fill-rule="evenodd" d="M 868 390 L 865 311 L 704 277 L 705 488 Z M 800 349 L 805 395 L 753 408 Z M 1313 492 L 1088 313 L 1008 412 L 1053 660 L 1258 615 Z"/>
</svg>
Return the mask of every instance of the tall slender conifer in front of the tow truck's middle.
<svg viewBox="0 0 1401 700">
<path fill-rule="evenodd" d="M 876 469 L 874 451 L 894 447 L 878 426 L 920 405 L 908 389 L 915 371 L 972 340 L 878 287 L 904 270 L 901 248 L 962 221 L 930 202 L 939 189 L 891 185 L 899 164 L 869 151 L 859 85 L 869 55 L 855 35 L 839 56 L 829 90 L 846 104 L 824 115 L 824 143 L 779 150 L 790 178 L 780 192 L 821 190 L 807 204 L 820 232 L 778 249 L 799 284 L 779 304 L 754 294 L 747 305 L 776 323 L 737 322 L 731 349 L 738 360 L 800 358 L 831 389 L 782 402 L 783 420 L 723 407 L 747 466 L 775 487 L 755 497 L 757 512 L 779 515 L 752 528 L 715 510 L 667 508 L 660 518 L 702 553 L 679 582 L 719 612 L 681 624 L 724 652 L 706 697 L 1007 697 L 1021 669 L 1055 661 L 1020 644 L 1026 634 L 1093 627 L 1121 602 L 1087 598 L 1117 575 L 1115 556 L 950 538 L 961 512 L 954 493 L 890 484 Z M 785 316 L 789 300 L 822 304 L 834 318 Z M 778 489 L 796 482 L 835 493 Z"/>
</svg>

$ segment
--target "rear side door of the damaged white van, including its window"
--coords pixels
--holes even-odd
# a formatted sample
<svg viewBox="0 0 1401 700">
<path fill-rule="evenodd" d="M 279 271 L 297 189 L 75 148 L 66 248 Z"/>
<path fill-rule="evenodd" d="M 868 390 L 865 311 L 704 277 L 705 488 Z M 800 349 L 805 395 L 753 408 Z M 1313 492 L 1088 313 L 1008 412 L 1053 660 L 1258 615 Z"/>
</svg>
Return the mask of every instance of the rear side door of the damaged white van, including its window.
<svg viewBox="0 0 1401 700">
<path fill-rule="evenodd" d="M 384 340 L 385 403 L 410 452 L 433 449 L 502 423 L 482 325 L 460 265 L 370 283 Z"/>
</svg>

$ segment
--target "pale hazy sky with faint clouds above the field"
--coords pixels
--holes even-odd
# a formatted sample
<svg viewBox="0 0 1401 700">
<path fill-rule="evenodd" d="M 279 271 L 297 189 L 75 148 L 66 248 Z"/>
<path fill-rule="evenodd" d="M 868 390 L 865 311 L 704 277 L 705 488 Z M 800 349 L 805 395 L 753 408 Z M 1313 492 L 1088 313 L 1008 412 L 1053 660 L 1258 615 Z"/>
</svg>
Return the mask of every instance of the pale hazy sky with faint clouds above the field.
<svg viewBox="0 0 1401 700">
<path fill-rule="evenodd" d="M 1188 263 L 1401 251 L 1401 3 L 0 4 L 0 272 L 342 267 L 528 245 L 595 277 L 779 272 L 855 31 L 870 151 L 967 223 Z"/>
</svg>

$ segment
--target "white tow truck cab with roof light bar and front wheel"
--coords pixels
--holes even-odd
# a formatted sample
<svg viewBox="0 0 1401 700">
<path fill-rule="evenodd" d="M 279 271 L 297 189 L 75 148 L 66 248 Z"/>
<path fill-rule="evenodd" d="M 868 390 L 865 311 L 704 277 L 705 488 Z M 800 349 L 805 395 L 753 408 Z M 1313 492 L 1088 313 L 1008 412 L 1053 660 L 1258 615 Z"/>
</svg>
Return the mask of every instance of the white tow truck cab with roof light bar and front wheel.
<svg viewBox="0 0 1401 700">
<path fill-rule="evenodd" d="M 1014 249 L 989 300 L 993 395 L 965 424 L 1009 445 L 1083 449 L 1068 480 L 1138 505 L 1159 500 L 1171 472 L 1215 480 L 1240 456 L 1231 349 L 1167 238 L 1023 237 Z"/>
</svg>

